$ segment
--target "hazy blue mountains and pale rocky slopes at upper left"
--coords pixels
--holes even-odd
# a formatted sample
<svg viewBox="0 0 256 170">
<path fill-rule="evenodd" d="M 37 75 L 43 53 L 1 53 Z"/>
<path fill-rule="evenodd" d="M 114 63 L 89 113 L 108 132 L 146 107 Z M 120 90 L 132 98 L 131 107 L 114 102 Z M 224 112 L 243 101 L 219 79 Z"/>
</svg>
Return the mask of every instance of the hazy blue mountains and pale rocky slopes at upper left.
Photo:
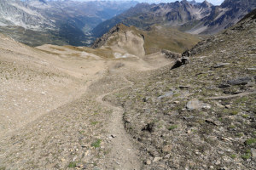
<svg viewBox="0 0 256 170">
<path fill-rule="evenodd" d="M 94 41 L 90 35 L 92 28 L 136 4 L 135 1 L 0 0 L 0 31 L 32 46 L 88 45 Z"/>
</svg>

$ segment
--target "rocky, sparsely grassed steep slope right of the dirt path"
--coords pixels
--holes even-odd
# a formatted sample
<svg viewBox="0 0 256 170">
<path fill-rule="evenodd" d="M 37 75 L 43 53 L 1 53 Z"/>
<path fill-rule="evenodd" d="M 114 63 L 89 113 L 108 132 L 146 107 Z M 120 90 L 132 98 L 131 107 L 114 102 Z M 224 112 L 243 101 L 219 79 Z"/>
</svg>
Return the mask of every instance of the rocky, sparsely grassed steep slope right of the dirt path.
<svg viewBox="0 0 256 170">
<path fill-rule="evenodd" d="M 130 76 L 105 99 L 125 109 L 142 169 L 254 169 L 256 15 L 199 42 L 189 64 Z"/>
</svg>

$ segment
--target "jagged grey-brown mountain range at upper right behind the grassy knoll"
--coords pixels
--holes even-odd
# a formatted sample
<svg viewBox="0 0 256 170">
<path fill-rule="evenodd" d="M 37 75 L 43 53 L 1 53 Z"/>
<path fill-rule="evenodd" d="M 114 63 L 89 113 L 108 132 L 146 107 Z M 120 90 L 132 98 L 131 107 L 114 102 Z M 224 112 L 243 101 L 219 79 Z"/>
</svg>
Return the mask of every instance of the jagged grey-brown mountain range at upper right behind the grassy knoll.
<svg viewBox="0 0 256 170">
<path fill-rule="evenodd" d="M 213 34 L 233 26 L 241 18 L 256 8 L 255 0 L 225 0 L 220 6 L 207 1 L 196 3 L 186 1 L 175 3 L 138 3 L 123 14 L 106 20 L 92 30 L 101 37 L 118 23 L 147 29 L 155 24 L 176 26 L 181 31 L 195 34 Z"/>
</svg>

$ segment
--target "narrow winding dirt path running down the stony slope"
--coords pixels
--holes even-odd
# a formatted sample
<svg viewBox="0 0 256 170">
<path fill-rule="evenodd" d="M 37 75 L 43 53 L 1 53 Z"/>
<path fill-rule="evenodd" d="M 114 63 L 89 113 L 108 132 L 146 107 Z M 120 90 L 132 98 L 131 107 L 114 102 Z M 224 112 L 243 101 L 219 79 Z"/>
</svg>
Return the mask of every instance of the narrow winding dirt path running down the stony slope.
<svg viewBox="0 0 256 170">
<path fill-rule="evenodd" d="M 124 77 L 125 78 L 125 77 Z M 124 88 L 128 88 L 133 85 L 133 82 L 125 81 L 130 85 Z M 102 94 L 96 98 L 96 101 L 108 108 L 113 109 L 113 115 L 110 118 L 108 124 L 108 138 L 111 139 L 111 151 L 106 158 L 104 169 L 121 169 L 121 170 L 137 170 L 140 169 L 140 161 L 138 158 L 138 151 L 132 143 L 131 136 L 126 133 L 123 122 L 124 110 L 121 107 L 112 105 L 108 101 L 104 101 L 104 97 L 118 92 L 124 88 L 113 90 L 110 93 Z"/>
</svg>

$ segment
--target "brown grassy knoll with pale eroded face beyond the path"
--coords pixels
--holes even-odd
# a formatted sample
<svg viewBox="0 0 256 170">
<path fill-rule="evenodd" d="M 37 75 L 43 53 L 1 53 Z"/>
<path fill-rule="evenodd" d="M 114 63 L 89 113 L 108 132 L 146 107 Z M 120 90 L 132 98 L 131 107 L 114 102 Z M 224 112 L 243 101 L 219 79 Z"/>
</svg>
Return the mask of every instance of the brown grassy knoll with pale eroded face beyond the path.
<svg viewBox="0 0 256 170">
<path fill-rule="evenodd" d="M 143 31 L 134 26 L 128 27 L 120 24 L 113 26 L 107 34 L 96 39 L 92 47 L 111 48 L 113 53 L 121 48 L 126 49 L 129 54 L 140 56 L 154 54 L 162 49 L 181 54 L 199 41 L 199 37 L 166 26 L 151 26 L 148 27 L 148 31 Z M 123 51 L 122 54 L 124 53 Z"/>
</svg>

